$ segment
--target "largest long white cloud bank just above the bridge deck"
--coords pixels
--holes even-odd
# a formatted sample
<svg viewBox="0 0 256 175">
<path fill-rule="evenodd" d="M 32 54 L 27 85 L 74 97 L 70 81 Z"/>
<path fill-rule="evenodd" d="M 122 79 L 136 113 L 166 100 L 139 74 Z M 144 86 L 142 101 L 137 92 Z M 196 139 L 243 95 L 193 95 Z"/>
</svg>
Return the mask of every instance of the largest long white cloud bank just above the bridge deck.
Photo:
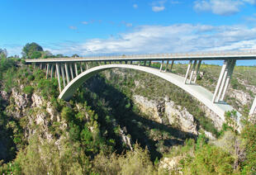
<svg viewBox="0 0 256 175">
<path fill-rule="evenodd" d="M 59 44 L 58 44 L 59 45 Z M 179 24 L 139 26 L 128 33 L 85 43 L 66 43 L 53 54 L 141 54 L 256 48 L 256 27 Z M 49 50 L 49 49 L 48 49 Z"/>
</svg>

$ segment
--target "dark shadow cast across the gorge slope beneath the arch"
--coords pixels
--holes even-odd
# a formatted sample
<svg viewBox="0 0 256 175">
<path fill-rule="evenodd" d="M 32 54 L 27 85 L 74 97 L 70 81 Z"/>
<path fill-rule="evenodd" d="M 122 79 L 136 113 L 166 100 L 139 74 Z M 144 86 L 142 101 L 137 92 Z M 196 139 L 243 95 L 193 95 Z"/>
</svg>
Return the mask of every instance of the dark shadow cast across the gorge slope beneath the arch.
<svg viewBox="0 0 256 175">
<path fill-rule="evenodd" d="M 116 140 L 115 149 L 119 154 L 127 148 L 122 144 L 121 136 L 115 133 L 117 125 L 127 131 L 126 134 L 130 135 L 133 143 L 137 142 L 141 147 L 149 149 L 152 161 L 162 157 L 163 149 L 183 144 L 187 138 L 197 137 L 171 125 L 164 125 L 140 116 L 132 110 L 134 104 L 130 98 L 109 85 L 107 80 L 99 75 L 89 78 L 79 91 L 83 92 L 83 96 L 75 96 L 73 100 L 87 101 L 88 106 L 92 106 L 92 110 L 98 115 L 102 135 L 107 140 Z"/>
</svg>

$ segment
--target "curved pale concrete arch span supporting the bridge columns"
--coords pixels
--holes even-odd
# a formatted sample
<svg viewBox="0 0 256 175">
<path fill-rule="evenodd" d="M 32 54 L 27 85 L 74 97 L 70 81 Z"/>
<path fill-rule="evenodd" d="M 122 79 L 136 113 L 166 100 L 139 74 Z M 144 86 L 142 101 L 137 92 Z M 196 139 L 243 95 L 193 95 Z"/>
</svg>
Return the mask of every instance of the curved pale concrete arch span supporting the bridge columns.
<svg viewBox="0 0 256 175">
<path fill-rule="evenodd" d="M 88 78 L 92 77 L 92 75 L 107 69 L 114 69 L 114 68 L 140 70 L 146 73 L 154 74 L 159 78 L 163 78 L 168 82 L 175 84 L 179 88 L 183 88 L 184 91 L 190 93 L 193 97 L 196 97 L 199 102 L 203 103 L 208 108 L 210 108 L 211 111 L 215 112 L 217 116 L 220 116 L 220 118 L 223 121 L 225 121 L 225 116 L 224 116 L 225 111 L 234 110 L 232 106 L 225 103 L 223 104 L 212 103 L 211 99 L 213 97 L 213 94 L 210 91 L 206 90 L 206 88 L 202 88 L 197 84 L 185 84 L 184 83 L 185 78 L 183 78 L 182 76 L 179 76 L 174 73 L 160 72 L 159 69 L 132 65 L 132 64 L 106 64 L 106 65 L 94 67 L 92 69 L 88 69 L 83 73 L 80 73 L 76 78 L 73 78 L 73 80 L 59 94 L 59 98 L 64 100 L 69 100 L 73 96 L 73 93 L 77 90 L 77 88 L 81 86 Z"/>
</svg>

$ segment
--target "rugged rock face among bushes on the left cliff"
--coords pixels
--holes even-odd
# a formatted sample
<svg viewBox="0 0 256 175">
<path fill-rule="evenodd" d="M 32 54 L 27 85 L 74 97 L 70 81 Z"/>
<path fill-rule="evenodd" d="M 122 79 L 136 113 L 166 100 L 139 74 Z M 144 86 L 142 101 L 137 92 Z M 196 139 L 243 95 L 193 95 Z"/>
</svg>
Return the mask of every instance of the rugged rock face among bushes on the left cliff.
<svg viewBox="0 0 256 175">
<path fill-rule="evenodd" d="M 2 94 L 6 97 L 4 92 L 2 92 Z M 29 110 L 35 112 L 35 116 L 29 115 L 31 117 L 28 117 L 29 122 L 25 130 L 26 137 L 30 137 L 36 132 L 37 129 L 32 129 L 33 127 L 31 127 L 31 125 L 34 125 L 35 123 L 40 126 L 42 138 L 47 140 L 53 139 L 53 135 L 50 134 L 49 126 L 52 125 L 54 121 L 59 122 L 60 120 L 59 112 L 55 111 L 51 102 L 45 102 L 37 93 L 33 93 L 29 96 L 26 93 L 17 91 L 15 88 L 12 88 L 12 93 L 9 98 L 12 99 L 10 100 L 10 104 L 13 107 L 9 107 L 8 112 L 10 112 L 12 116 L 20 119 L 21 117 L 28 116 L 27 114 Z"/>
</svg>

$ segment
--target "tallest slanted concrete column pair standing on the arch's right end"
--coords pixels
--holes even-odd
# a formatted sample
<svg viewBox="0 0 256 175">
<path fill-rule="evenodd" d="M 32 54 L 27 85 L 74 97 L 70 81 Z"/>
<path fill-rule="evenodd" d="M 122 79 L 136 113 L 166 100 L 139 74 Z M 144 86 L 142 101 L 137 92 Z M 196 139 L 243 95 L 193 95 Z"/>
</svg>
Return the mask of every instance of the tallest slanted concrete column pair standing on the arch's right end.
<svg viewBox="0 0 256 175">
<path fill-rule="evenodd" d="M 223 102 L 225 92 L 229 86 L 230 79 L 235 68 L 235 62 L 235 59 L 225 60 L 220 71 L 220 77 L 218 79 L 212 102 Z"/>
</svg>

